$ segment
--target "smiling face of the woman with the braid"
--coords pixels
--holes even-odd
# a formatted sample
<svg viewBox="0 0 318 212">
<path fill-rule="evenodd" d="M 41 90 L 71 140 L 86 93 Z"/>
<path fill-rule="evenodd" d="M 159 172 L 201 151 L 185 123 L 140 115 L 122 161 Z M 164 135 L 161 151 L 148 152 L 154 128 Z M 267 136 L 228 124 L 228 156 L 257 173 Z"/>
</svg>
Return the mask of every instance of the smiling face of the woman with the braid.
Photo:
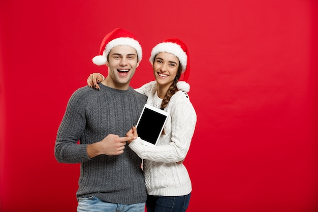
<svg viewBox="0 0 318 212">
<path fill-rule="evenodd" d="M 179 64 L 179 59 L 175 55 L 167 52 L 158 53 L 152 65 L 157 84 L 169 87 L 177 75 Z"/>
</svg>

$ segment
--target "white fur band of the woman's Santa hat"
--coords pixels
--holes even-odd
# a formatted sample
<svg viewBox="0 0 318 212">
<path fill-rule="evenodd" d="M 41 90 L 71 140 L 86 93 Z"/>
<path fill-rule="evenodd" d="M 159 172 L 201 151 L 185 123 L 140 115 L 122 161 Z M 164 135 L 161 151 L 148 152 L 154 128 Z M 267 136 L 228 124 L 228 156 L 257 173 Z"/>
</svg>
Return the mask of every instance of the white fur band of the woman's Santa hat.
<svg viewBox="0 0 318 212">
<path fill-rule="evenodd" d="M 180 45 L 171 42 L 157 44 L 155 47 L 153 47 L 151 51 L 151 56 L 149 58 L 151 65 L 153 65 L 155 55 L 157 55 L 160 52 L 167 52 L 178 57 L 180 64 L 182 66 L 182 73 L 185 71 L 187 56 L 186 53 L 180 47 Z"/>
</svg>

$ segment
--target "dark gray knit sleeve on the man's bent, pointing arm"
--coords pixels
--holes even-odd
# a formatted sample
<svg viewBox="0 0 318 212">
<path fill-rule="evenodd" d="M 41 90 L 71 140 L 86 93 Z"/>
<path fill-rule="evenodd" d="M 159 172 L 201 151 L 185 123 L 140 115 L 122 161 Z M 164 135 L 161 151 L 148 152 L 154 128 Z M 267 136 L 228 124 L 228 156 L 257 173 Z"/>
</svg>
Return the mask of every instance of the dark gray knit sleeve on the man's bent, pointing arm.
<svg viewBox="0 0 318 212">
<path fill-rule="evenodd" d="M 66 112 L 57 131 L 54 155 L 60 163 L 81 163 L 91 160 L 87 144 L 78 144 L 86 125 L 83 90 L 78 89 L 70 98 Z"/>
</svg>

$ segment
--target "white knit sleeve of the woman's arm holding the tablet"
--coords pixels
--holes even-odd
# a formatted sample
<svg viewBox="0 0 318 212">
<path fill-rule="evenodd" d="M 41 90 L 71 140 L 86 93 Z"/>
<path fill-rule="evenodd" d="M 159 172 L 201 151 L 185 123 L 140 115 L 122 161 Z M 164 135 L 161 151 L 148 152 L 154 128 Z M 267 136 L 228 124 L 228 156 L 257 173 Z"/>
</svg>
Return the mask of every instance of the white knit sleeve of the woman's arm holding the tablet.
<svg viewBox="0 0 318 212">
<path fill-rule="evenodd" d="M 169 144 L 147 146 L 145 141 L 137 138 L 129 146 L 140 158 L 165 163 L 179 162 L 185 158 L 195 131 L 197 115 L 186 93 L 180 91 L 174 96 L 176 97 L 171 98 L 169 102 L 171 107 L 171 139 Z M 167 137 L 169 135 L 161 135 L 161 139 Z"/>
</svg>

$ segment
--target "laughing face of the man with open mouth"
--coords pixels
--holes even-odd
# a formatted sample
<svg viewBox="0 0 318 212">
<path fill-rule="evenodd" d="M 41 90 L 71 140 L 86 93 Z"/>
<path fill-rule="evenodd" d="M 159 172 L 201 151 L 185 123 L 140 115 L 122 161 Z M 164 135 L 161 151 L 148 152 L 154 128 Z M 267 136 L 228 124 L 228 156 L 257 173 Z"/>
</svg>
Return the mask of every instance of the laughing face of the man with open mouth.
<svg viewBox="0 0 318 212">
<path fill-rule="evenodd" d="M 115 46 L 109 52 L 107 85 L 115 89 L 128 89 L 139 66 L 136 49 L 130 46 Z"/>
</svg>

